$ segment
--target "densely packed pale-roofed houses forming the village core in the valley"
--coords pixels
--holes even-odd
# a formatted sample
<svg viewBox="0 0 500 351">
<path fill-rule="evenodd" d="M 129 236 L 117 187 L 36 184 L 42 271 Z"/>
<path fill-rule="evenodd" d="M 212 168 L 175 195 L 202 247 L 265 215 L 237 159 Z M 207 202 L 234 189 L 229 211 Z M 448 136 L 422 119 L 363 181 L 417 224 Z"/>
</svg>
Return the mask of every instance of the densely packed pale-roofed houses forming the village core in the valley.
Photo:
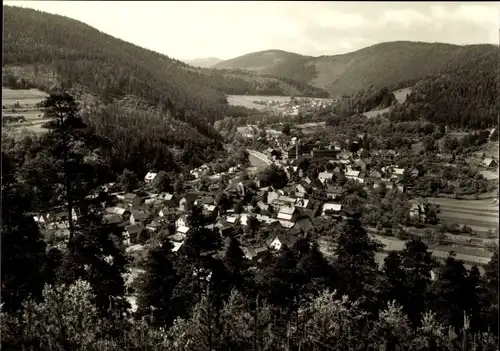
<svg viewBox="0 0 500 351">
<path fill-rule="evenodd" d="M 292 146 L 295 157 L 287 157 L 279 163 L 288 177 L 288 184 L 282 189 L 274 189 L 259 180 L 243 180 L 240 176 L 241 166 L 227 172 L 232 175 L 232 179 L 223 188 L 218 177 L 208 177 L 208 184 L 200 182 L 201 177 L 210 173 L 208 166 L 202 166 L 191 172 L 198 181 L 186 182 L 187 190 L 182 194 L 155 193 L 151 190 L 122 193 L 116 190 L 115 184 L 107 184 L 100 189 L 101 194 L 106 194 L 106 200 L 101 203 L 104 219 L 122 227 L 124 241 L 130 246 L 143 243 L 155 231 L 169 228 L 173 250 L 182 252 L 183 243 L 192 230 L 187 214 L 191 206 L 197 205 L 202 208 L 205 226 L 218 232 L 222 238 L 235 235 L 240 226 L 251 226 L 255 221 L 260 223 L 259 230 L 268 232 L 268 240 L 249 240 L 251 245 L 242 246 L 249 259 L 258 259 L 270 248 L 280 250 L 283 246 L 292 245 L 298 236 L 313 229 L 315 217 L 340 219 L 349 215 L 349 210 L 339 202 L 343 188 L 335 184 L 334 178 L 344 176 L 363 184 L 367 189 L 385 186 L 404 192 L 403 177 L 419 176 L 416 169 L 405 170 L 393 165 L 396 155 L 390 151 L 377 151 L 371 153 L 370 157 L 361 157 L 362 150 L 349 152 L 337 145 L 319 149 L 314 146 L 302 147 L 296 142 Z M 326 167 L 329 170 L 320 172 L 316 179 L 308 177 L 295 164 L 297 154 L 305 154 L 308 150 L 311 157 L 331 156 L 328 160 L 330 165 Z M 374 162 L 375 159 L 377 162 Z M 144 178 L 146 189 L 152 188 L 156 176 L 156 173 L 148 172 Z M 217 203 L 216 199 L 222 192 L 230 200 L 229 205 Z M 419 216 L 419 211 L 424 211 L 417 208 L 412 210 Z M 73 219 L 78 219 L 77 211 L 73 213 Z M 67 233 L 64 212 L 38 215 L 35 220 L 44 229 Z"/>
</svg>

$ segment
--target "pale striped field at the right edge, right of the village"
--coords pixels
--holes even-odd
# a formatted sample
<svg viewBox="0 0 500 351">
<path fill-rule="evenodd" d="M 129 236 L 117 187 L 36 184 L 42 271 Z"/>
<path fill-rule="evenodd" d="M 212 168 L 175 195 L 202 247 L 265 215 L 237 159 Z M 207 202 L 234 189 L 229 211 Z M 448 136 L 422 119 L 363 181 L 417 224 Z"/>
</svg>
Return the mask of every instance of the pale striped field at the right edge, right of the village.
<svg viewBox="0 0 500 351">
<path fill-rule="evenodd" d="M 484 237 L 489 229 L 498 229 L 498 205 L 491 199 L 456 200 L 429 198 L 430 203 L 439 205 L 439 218 L 446 224 L 467 225 Z"/>
</svg>

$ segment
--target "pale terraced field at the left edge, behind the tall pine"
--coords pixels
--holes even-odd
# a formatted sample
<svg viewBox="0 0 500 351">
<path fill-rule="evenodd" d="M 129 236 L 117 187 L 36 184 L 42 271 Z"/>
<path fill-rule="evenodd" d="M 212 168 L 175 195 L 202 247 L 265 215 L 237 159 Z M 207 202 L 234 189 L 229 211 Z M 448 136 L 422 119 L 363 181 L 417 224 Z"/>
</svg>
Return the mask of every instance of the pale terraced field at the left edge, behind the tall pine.
<svg viewBox="0 0 500 351">
<path fill-rule="evenodd" d="M 24 117 L 22 122 L 12 122 L 8 125 L 15 130 L 28 130 L 35 133 L 46 131 L 42 124 L 47 122 L 43 119 L 43 111 L 36 107 L 47 97 L 47 94 L 37 89 L 13 90 L 2 88 L 2 118 Z"/>
</svg>

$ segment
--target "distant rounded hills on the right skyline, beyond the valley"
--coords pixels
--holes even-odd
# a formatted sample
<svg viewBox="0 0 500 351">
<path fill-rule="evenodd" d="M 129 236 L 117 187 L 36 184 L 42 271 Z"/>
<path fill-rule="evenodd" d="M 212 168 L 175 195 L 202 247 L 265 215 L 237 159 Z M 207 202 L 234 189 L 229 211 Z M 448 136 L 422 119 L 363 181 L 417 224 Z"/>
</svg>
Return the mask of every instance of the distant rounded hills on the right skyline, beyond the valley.
<svg viewBox="0 0 500 351">
<path fill-rule="evenodd" d="M 282 51 L 243 55 L 216 68 L 240 68 L 290 79 L 325 89 L 330 96 L 353 94 L 375 87 L 393 86 L 427 75 L 476 64 L 496 65 L 494 45 L 458 46 L 442 43 L 387 42 L 348 54 L 307 57 Z"/>
</svg>

